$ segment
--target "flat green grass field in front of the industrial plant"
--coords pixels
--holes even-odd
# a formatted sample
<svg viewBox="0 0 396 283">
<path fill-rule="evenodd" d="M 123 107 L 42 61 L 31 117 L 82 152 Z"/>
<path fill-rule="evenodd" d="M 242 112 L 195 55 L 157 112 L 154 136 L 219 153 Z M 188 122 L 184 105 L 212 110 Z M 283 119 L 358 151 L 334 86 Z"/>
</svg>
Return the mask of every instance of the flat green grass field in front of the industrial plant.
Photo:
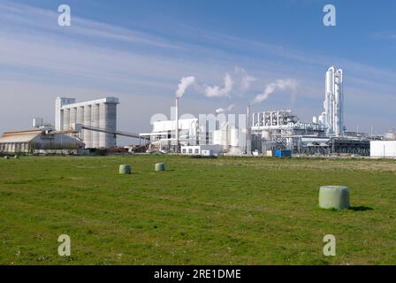
<svg viewBox="0 0 396 283">
<path fill-rule="evenodd" d="M 323 185 L 350 187 L 353 209 L 319 209 Z M 0 160 L 0 264 L 396 264 L 395 218 L 391 160 Z"/>
</svg>

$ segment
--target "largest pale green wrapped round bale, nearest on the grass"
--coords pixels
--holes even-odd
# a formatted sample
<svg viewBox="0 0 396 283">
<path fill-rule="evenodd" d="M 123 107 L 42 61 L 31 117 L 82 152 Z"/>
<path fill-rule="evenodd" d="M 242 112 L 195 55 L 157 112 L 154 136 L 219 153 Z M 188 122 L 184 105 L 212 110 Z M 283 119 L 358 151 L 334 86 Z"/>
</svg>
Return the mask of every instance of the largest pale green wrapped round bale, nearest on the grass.
<svg viewBox="0 0 396 283">
<path fill-rule="evenodd" d="M 319 191 L 319 206 L 323 209 L 345 210 L 350 208 L 349 188 L 344 186 L 323 186 Z"/>
</svg>

